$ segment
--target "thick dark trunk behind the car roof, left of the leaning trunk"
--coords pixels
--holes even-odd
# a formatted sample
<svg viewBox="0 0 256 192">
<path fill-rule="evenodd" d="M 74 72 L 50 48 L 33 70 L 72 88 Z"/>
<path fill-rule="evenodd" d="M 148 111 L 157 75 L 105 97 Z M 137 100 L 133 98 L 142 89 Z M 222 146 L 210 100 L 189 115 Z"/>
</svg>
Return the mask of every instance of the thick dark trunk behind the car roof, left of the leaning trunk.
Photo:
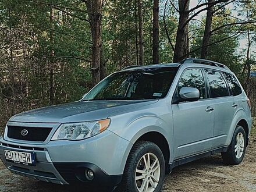
<svg viewBox="0 0 256 192">
<path fill-rule="evenodd" d="M 173 62 L 180 62 L 186 58 L 189 53 L 189 3 L 190 0 L 179 0 L 179 25 L 177 29 L 175 53 Z"/>
</svg>

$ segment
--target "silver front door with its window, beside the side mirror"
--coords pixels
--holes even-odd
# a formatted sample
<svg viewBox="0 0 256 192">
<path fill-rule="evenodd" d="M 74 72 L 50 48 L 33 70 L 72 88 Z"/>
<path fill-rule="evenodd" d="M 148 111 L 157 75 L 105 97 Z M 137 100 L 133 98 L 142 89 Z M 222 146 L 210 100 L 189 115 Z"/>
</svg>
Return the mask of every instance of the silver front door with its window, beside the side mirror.
<svg viewBox="0 0 256 192">
<path fill-rule="evenodd" d="M 210 99 L 207 99 L 202 69 L 185 70 L 174 97 L 179 97 L 182 87 L 197 88 L 200 99 L 172 104 L 175 159 L 210 150 L 214 133 L 214 111 Z"/>
</svg>

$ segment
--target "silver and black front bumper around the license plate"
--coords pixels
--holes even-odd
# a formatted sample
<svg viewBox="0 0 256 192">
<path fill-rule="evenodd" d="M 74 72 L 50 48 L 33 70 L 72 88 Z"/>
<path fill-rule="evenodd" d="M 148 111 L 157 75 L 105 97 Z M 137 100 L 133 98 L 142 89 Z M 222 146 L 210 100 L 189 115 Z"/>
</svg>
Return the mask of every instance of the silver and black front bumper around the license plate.
<svg viewBox="0 0 256 192">
<path fill-rule="evenodd" d="M 81 141 L 59 140 L 33 145 L 15 143 L 0 137 L 0 142 L 0 158 L 13 173 L 56 184 L 86 182 L 101 183 L 104 186 L 120 183 L 132 147 L 129 141 L 108 130 Z M 34 152 L 35 166 L 6 161 L 5 149 Z M 86 169 L 93 170 L 93 180 L 86 179 Z"/>
</svg>

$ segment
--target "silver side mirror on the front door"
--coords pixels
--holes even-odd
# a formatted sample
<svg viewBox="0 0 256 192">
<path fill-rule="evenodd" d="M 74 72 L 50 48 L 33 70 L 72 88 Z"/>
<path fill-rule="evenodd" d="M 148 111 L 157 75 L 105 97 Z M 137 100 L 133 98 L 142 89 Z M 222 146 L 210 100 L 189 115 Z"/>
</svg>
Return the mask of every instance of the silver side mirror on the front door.
<svg viewBox="0 0 256 192">
<path fill-rule="evenodd" d="M 200 98 L 199 90 L 192 87 L 182 87 L 179 94 L 184 101 L 197 101 Z"/>
</svg>

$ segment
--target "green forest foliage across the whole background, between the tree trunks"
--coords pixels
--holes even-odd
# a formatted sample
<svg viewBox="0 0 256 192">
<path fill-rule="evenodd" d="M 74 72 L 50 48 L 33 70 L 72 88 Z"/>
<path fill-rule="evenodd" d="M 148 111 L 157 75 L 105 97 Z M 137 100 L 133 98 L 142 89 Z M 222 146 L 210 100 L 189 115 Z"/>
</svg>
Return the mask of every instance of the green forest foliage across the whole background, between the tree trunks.
<svg viewBox="0 0 256 192">
<path fill-rule="evenodd" d="M 166 30 L 175 45 L 178 24 L 178 13 L 170 3 L 165 10 L 165 2 L 159 3 L 160 63 L 172 62 L 173 49 Z M 246 10 L 250 10 L 250 19 L 255 19 L 254 2 L 239 1 L 237 5 L 239 16 L 246 17 Z M 125 66 L 137 65 L 137 6 L 137 0 L 104 1 L 101 62 L 105 64 L 107 74 Z M 152 64 L 152 7 L 153 1 L 143 1 L 144 65 Z M 236 22 L 237 19 L 229 17 L 231 12 L 219 10 L 219 14 L 214 16 L 212 30 Z M 200 57 L 204 23 L 204 19 L 201 23 L 190 22 L 190 51 L 193 57 Z M 246 34 L 241 32 L 248 30 L 250 33 L 256 31 L 253 24 L 214 31 L 208 59 L 224 63 L 237 74 L 248 62 L 254 69 L 255 54 L 247 59 L 237 51 L 239 39 L 246 38 Z M 236 34 L 237 31 L 240 33 Z M 91 24 L 83 1 L 0 1 L 0 112 L 3 119 L 20 111 L 49 105 L 51 90 L 54 104 L 80 99 L 92 84 L 91 38 Z M 255 35 L 251 35 L 250 39 L 255 41 Z M 244 78 L 241 76 L 241 79 Z"/>
</svg>

